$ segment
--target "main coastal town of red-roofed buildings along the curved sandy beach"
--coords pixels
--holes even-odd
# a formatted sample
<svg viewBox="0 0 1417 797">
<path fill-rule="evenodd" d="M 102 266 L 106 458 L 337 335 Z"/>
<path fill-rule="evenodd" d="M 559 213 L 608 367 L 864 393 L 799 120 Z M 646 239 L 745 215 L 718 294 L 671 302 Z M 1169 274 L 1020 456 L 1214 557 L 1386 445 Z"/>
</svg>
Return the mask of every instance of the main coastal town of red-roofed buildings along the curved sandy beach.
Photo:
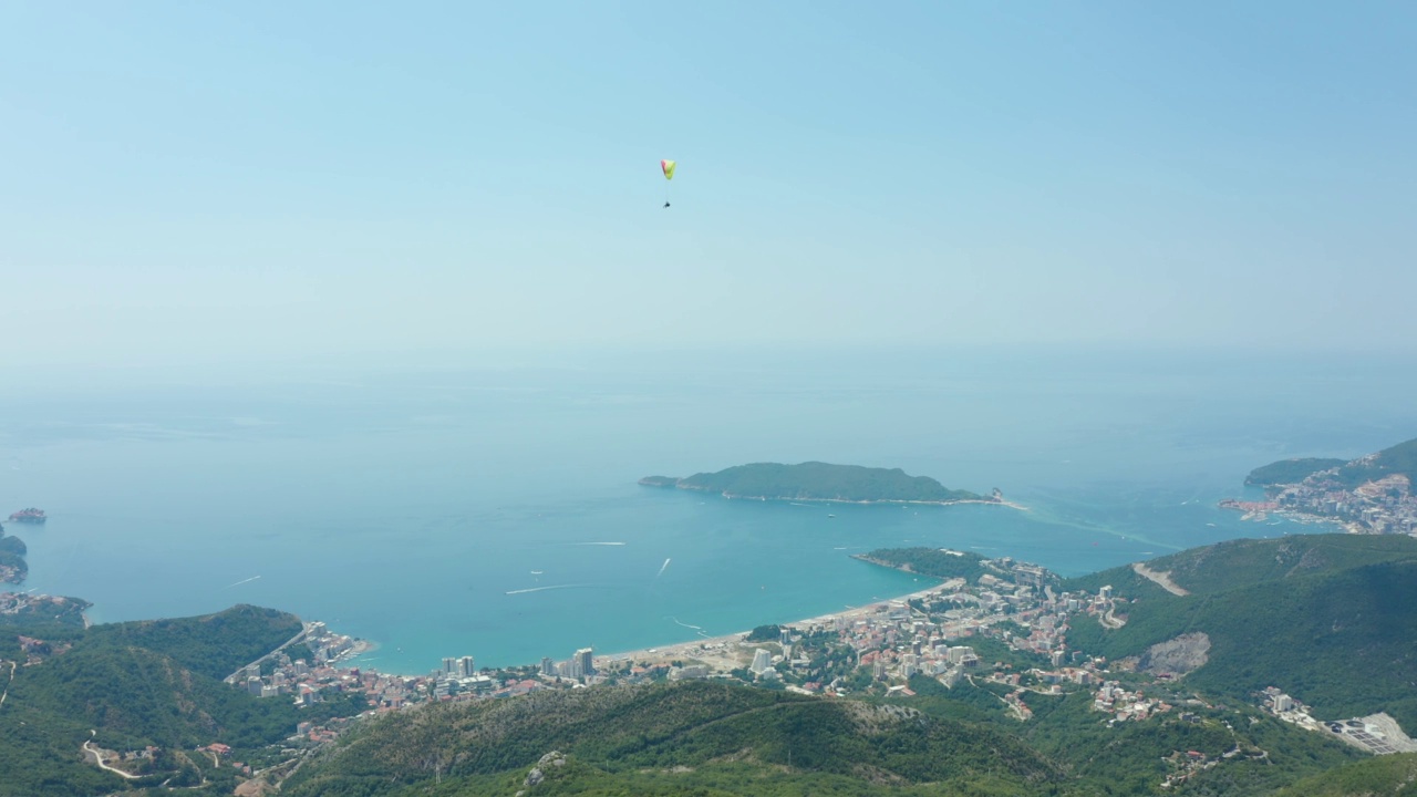
<svg viewBox="0 0 1417 797">
<path fill-rule="evenodd" d="M 367 715 L 544 689 L 735 679 L 828 698 L 901 701 L 915 698 L 921 684 L 942 689 L 968 684 L 992 693 L 999 710 L 1019 722 L 1032 719 L 1037 701 L 1085 691 L 1098 720 L 1107 725 L 1146 722 L 1168 712 L 1193 719 L 1199 701 L 1169 691 L 1165 679 L 1170 674 L 1148 678 L 1135 672 L 1134 662 L 1108 662 L 1068 648 L 1071 624 L 1125 623 L 1127 600 L 1111 587 L 1091 594 L 1057 591 L 1058 579 L 1041 567 L 1009 557 L 981 564 L 983 573 L 972 581 L 955 577 L 830 615 L 643 651 L 604 655 L 581 648 L 565 659 L 543 658 L 513 668 L 479 669 L 472 655 L 459 655 L 445 657 L 427 675 L 384 674 L 350 661 L 366 650 L 364 642 L 309 623 L 296 638 L 227 682 L 302 706 L 353 695 L 367 705 Z M 351 722 L 302 722 L 288 740 L 290 752 L 317 749 Z M 1182 754 L 1173 777 L 1199 771 L 1206 763 Z"/>
</svg>

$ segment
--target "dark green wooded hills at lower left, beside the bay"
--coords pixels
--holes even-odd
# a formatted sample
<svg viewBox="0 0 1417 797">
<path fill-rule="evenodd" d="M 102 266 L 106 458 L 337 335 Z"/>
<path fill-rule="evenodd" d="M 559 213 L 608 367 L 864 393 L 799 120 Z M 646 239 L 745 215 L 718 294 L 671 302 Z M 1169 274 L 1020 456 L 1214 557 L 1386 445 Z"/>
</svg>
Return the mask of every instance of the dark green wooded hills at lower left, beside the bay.
<svg viewBox="0 0 1417 797">
<path fill-rule="evenodd" d="M 0 658 L 24 661 L 20 634 L 45 641 L 43 661 L 16 668 L 0 709 L 0 739 L 6 740 L 0 745 L 0 796 L 122 788 L 118 776 L 82 763 L 81 746 L 91 730 L 101 746 L 116 750 L 149 745 L 191 750 L 222 742 L 254 752 L 293 733 L 302 719 L 349 716 L 367 708 L 363 696 L 333 695 L 299 709 L 289 699 L 254 698 L 220 681 L 299 628 L 290 614 L 249 606 L 89 630 L 0 617 Z M 0 672 L 9 676 L 9 667 Z M 210 780 L 215 773 L 196 769 L 210 766 L 204 760 L 196 756 L 179 766 L 194 767 L 194 783 Z M 166 770 L 163 780 L 173 771 Z M 135 784 L 143 783 L 126 783 Z"/>
</svg>

